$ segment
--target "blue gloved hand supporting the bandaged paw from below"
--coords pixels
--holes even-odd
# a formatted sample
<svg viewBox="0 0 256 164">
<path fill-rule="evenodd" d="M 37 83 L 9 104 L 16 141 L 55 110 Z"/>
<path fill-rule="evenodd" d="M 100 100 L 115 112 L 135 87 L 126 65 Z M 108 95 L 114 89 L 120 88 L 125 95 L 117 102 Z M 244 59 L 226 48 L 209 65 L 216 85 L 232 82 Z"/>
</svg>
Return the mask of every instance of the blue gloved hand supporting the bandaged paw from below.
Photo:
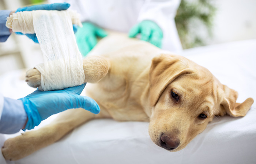
<svg viewBox="0 0 256 164">
<path fill-rule="evenodd" d="M 80 96 L 86 83 L 63 90 L 39 91 L 38 89 L 20 99 L 27 113 L 25 129 L 33 129 L 49 116 L 72 108 L 84 108 L 94 114 L 100 109 L 90 97 Z"/>
</svg>

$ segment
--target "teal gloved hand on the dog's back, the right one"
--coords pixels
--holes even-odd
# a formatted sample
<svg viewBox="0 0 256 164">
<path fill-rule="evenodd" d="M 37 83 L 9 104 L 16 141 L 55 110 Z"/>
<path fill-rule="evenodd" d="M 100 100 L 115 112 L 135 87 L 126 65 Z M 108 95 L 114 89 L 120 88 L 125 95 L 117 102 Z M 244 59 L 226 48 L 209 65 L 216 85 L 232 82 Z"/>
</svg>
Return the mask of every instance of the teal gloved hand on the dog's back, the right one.
<svg viewBox="0 0 256 164">
<path fill-rule="evenodd" d="M 143 20 L 131 28 L 129 37 L 135 37 L 139 33 L 141 34 L 140 40 L 148 41 L 161 48 L 163 32 L 156 23 L 151 20 Z"/>
</svg>

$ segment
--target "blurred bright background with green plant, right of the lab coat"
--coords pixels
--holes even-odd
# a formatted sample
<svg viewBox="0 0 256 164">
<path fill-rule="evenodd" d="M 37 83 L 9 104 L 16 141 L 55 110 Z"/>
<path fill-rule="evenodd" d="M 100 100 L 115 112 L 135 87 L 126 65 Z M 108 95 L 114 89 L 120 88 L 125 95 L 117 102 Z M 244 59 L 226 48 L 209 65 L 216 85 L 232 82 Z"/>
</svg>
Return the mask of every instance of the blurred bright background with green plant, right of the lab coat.
<svg viewBox="0 0 256 164">
<path fill-rule="evenodd" d="M 256 39 L 256 0 L 182 0 L 175 21 L 184 49 Z"/>
</svg>

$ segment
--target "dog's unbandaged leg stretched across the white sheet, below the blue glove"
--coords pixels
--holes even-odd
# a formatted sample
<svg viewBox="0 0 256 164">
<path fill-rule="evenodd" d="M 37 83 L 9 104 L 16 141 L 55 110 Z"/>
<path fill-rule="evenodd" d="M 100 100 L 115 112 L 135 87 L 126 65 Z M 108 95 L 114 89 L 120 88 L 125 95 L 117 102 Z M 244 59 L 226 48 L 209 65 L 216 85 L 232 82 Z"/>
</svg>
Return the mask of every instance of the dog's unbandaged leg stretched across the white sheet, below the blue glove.
<svg viewBox="0 0 256 164">
<path fill-rule="evenodd" d="M 94 119 L 95 115 L 82 108 L 68 109 L 49 125 L 5 141 L 1 148 L 6 160 L 18 160 L 61 139 L 72 129 Z M 98 117 L 98 115 L 97 115 Z"/>
</svg>

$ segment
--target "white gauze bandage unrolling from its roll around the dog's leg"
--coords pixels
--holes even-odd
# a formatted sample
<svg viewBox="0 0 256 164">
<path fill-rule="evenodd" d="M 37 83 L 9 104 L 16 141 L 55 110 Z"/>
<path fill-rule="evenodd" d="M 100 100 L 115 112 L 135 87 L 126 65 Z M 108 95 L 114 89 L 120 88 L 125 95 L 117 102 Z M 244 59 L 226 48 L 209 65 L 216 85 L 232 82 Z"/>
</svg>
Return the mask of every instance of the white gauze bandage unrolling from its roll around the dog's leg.
<svg viewBox="0 0 256 164">
<path fill-rule="evenodd" d="M 44 91 L 64 89 L 84 82 L 82 55 L 76 45 L 72 24 L 82 25 L 72 11 L 23 11 L 7 18 L 6 26 L 14 32 L 36 33 L 44 64 L 41 73 Z"/>
</svg>

